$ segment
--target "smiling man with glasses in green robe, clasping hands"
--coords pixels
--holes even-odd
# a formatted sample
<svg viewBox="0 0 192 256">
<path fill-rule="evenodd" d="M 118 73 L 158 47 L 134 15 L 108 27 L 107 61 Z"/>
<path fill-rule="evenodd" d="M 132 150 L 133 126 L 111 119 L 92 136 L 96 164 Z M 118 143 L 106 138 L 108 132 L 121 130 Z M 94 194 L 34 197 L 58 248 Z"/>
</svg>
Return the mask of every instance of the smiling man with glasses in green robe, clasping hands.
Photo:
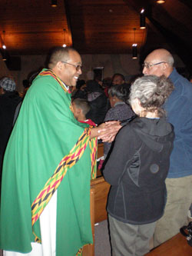
<svg viewBox="0 0 192 256">
<path fill-rule="evenodd" d="M 69 86 L 79 75 L 78 52 L 55 48 L 48 69 L 25 96 L 5 151 L 0 212 L 5 256 L 75 255 L 93 242 L 89 194 L 96 137 L 111 141 L 121 126 L 90 128 L 74 118 Z"/>
</svg>

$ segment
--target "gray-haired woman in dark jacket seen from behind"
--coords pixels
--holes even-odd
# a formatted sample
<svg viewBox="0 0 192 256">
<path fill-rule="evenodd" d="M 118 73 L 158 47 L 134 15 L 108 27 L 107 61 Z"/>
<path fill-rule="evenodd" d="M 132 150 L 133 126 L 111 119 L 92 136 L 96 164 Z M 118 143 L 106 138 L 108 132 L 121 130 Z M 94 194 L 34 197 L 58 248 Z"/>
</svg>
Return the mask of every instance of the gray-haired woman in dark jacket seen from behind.
<svg viewBox="0 0 192 256">
<path fill-rule="evenodd" d="M 174 128 L 162 105 L 173 90 L 170 80 L 152 75 L 131 85 L 129 102 L 137 118 L 119 131 L 104 168 L 111 184 L 107 210 L 113 255 L 146 254 L 164 214 Z"/>
</svg>

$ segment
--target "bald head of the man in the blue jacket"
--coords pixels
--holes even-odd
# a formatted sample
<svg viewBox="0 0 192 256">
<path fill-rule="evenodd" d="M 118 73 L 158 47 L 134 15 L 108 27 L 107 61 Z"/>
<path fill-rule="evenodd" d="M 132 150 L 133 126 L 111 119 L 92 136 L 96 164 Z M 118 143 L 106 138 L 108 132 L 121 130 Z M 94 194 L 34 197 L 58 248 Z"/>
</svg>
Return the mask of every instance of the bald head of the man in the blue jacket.
<svg viewBox="0 0 192 256">
<path fill-rule="evenodd" d="M 165 49 L 157 49 L 147 55 L 144 60 L 144 75 L 165 75 L 168 77 L 173 71 L 174 58 Z"/>
</svg>

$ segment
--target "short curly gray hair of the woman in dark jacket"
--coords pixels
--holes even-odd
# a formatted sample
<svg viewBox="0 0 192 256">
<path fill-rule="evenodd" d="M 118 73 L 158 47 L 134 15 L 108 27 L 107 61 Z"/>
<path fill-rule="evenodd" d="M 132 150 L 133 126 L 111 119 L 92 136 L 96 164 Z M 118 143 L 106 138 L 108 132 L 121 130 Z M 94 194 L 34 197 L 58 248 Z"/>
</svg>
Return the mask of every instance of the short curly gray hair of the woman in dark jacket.
<svg viewBox="0 0 192 256">
<path fill-rule="evenodd" d="M 157 111 L 159 116 L 165 114 L 162 105 L 174 90 L 174 85 L 164 75 L 145 75 L 137 78 L 131 85 L 129 103 L 132 104 L 135 98 L 141 102 L 145 111 Z"/>
</svg>

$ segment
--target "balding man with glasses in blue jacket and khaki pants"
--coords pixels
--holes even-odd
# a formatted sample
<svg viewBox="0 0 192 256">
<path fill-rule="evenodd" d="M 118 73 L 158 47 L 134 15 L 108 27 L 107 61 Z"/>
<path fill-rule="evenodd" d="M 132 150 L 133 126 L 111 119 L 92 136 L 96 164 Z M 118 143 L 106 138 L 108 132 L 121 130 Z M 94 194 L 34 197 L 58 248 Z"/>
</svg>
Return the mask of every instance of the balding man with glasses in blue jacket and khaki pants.
<svg viewBox="0 0 192 256">
<path fill-rule="evenodd" d="M 174 125 L 175 139 L 166 180 L 167 204 L 154 233 L 154 246 L 157 246 L 187 224 L 192 202 L 192 86 L 177 73 L 174 58 L 165 49 L 147 55 L 143 68 L 144 75 L 165 75 L 174 83 L 174 91 L 164 106 L 168 121 Z"/>
</svg>

